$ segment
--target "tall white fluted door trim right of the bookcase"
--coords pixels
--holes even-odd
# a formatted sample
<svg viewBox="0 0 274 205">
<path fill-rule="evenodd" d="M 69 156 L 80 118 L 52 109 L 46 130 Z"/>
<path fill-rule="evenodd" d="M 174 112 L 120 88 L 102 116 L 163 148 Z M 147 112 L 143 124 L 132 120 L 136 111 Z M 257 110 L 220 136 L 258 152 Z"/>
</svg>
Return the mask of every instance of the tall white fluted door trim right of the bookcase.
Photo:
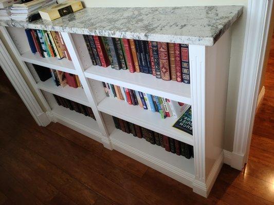
<svg viewBox="0 0 274 205">
<path fill-rule="evenodd" d="M 231 167 L 247 162 L 273 0 L 249 0 Z"/>
</svg>

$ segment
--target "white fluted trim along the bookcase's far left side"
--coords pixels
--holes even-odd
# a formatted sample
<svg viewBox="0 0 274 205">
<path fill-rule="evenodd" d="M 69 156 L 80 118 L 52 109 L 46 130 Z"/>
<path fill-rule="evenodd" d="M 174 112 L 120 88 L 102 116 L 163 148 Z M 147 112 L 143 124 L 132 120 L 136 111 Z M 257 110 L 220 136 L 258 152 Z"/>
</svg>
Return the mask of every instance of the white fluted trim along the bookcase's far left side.
<svg viewBox="0 0 274 205">
<path fill-rule="evenodd" d="M 46 113 L 43 112 L 38 101 L 33 96 L 28 85 L 26 84 L 21 73 L 17 69 L 14 61 L 9 55 L 6 47 L 0 39 L 0 66 L 9 78 L 12 86 L 19 94 L 30 114 L 39 126 L 47 126 L 50 123 L 50 119 Z"/>
</svg>

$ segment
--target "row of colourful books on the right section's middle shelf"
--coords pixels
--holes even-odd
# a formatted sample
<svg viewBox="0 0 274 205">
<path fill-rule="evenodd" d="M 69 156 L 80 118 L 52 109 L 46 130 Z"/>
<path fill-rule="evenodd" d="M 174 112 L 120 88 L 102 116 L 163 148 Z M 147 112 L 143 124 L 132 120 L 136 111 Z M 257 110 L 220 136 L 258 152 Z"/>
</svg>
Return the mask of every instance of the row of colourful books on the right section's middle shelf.
<svg viewBox="0 0 274 205">
<path fill-rule="evenodd" d="M 162 119 L 172 116 L 178 118 L 190 107 L 188 104 L 178 103 L 164 97 L 158 97 L 109 83 L 102 83 L 107 97 L 115 97 L 126 101 L 129 105 L 139 105 L 144 110 L 158 112 Z"/>
</svg>

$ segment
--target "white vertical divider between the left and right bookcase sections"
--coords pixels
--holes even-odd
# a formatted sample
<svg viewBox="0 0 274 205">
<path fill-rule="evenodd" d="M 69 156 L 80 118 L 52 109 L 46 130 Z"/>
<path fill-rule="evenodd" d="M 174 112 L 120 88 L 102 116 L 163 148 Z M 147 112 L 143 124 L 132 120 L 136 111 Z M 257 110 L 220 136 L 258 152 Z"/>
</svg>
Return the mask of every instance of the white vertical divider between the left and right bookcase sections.
<svg viewBox="0 0 274 205">
<path fill-rule="evenodd" d="M 61 32 L 61 33 L 62 33 L 64 42 L 66 44 L 66 47 L 69 51 L 72 62 L 74 63 L 76 73 L 79 76 L 79 79 L 81 81 L 81 84 L 83 86 L 85 94 L 87 96 L 87 99 L 90 103 L 90 106 L 91 106 L 93 112 L 94 112 L 96 121 L 97 121 L 100 131 L 102 133 L 102 137 L 101 137 L 102 143 L 103 143 L 104 147 L 112 150 L 113 148 L 112 148 L 111 140 L 109 139 L 109 134 L 108 134 L 106 126 L 104 124 L 102 115 L 97 109 L 97 101 L 96 101 L 95 95 L 93 93 L 93 89 L 90 86 L 88 79 L 84 75 L 85 69 L 81 62 L 76 45 L 74 44 L 74 40 L 72 39 L 72 36 L 70 33 L 65 33 L 65 32 Z"/>
</svg>

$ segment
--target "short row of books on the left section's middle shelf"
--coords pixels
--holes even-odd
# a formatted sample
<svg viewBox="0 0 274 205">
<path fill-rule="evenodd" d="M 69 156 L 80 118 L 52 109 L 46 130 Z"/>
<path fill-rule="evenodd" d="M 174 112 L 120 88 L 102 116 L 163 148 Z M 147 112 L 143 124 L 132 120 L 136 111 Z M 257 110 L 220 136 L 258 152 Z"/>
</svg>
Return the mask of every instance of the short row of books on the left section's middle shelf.
<svg viewBox="0 0 274 205">
<path fill-rule="evenodd" d="M 41 81 L 46 81 L 51 78 L 54 80 L 56 86 L 70 86 L 73 88 L 82 87 L 78 75 L 66 73 L 59 70 L 49 69 L 43 66 L 32 64 L 36 73 L 38 74 Z"/>
</svg>

